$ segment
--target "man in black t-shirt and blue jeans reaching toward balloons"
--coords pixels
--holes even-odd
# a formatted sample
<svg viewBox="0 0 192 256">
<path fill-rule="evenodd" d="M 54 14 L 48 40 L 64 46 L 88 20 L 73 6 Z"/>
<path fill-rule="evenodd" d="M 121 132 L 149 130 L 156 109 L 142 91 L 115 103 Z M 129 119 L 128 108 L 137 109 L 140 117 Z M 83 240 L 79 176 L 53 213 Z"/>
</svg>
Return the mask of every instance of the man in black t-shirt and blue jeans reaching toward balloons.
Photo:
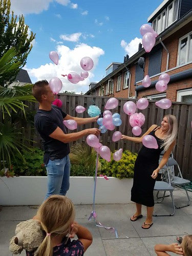
<svg viewBox="0 0 192 256">
<path fill-rule="evenodd" d="M 52 105 L 55 98 L 47 80 L 34 83 L 32 93 L 39 102 L 34 123 L 36 130 L 43 139 L 44 163 L 48 175 L 48 191 L 45 199 L 54 194 L 65 196 L 69 189 L 70 179 L 69 142 L 89 134 L 97 136 L 100 130 L 92 128 L 67 134 L 63 120 L 73 119 L 78 125 L 81 125 L 95 122 L 98 117 L 72 117 L 62 112 L 57 106 Z"/>
</svg>

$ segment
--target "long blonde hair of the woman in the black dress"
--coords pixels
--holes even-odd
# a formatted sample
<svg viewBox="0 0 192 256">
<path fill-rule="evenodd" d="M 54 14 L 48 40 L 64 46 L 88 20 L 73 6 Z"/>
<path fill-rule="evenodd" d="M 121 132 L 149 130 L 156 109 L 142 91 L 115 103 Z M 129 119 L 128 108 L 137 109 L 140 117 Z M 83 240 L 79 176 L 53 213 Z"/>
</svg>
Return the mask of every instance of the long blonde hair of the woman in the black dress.
<svg viewBox="0 0 192 256">
<path fill-rule="evenodd" d="M 170 144 L 172 144 L 176 140 L 178 124 L 177 124 L 177 118 L 175 116 L 166 115 L 164 117 L 166 117 L 168 120 L 169 129 L 166 133 L 166 137 L 164 138 L 164 143 L 161 145 L 161 147 L 164 148 L 164 151 L 167 151 Z"/>
</svg>

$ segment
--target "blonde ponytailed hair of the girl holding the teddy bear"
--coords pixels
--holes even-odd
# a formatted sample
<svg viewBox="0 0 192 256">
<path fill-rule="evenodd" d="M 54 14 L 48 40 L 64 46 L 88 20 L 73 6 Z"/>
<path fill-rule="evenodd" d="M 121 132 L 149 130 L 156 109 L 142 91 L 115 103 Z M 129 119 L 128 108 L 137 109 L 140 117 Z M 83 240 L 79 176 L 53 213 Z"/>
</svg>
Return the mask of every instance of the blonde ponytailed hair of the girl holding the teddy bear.
<svg viewBox="0 0 192 256">
<path fill-rule="evenodd" d="M 72 201 L 65 197 L 54 195 L 43 202 L 38 211 L 37 218 L 42 229 L 50 235 L 46 236 L 38 248 L 38 256 L 52 256 L 53 246 L 51 238 L 58 234 L 66 236 L 70 233 L 71 224 L 75 219 L 75 208 Z"/>
</svg>

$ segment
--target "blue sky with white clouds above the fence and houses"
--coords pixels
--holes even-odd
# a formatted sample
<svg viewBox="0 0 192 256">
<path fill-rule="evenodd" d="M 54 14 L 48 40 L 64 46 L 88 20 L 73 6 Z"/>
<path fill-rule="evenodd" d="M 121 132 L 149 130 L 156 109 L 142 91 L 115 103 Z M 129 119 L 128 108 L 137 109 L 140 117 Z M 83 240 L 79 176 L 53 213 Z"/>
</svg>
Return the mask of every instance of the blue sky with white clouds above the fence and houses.
<svg viewBox="0 0 192 256">
<path fill-rule="evenodd" d="M 34 83 L 53 77 L 61 79 L 62 91 L 87 92 L 90 82 L 106 75 L 112 62 L 123 62 L 138 51 L 141 25 L 162 0 L 11 0 L 14 14 L 24 14 L 29 33 L 36 37 L 24 67 Z M 49 52 L 59 54 L 55 65 Z M 94 67 L 89 77 L 73 84 L 61 74 L 83 70 L 80 60 L 91 57 Z"/>
</svg>

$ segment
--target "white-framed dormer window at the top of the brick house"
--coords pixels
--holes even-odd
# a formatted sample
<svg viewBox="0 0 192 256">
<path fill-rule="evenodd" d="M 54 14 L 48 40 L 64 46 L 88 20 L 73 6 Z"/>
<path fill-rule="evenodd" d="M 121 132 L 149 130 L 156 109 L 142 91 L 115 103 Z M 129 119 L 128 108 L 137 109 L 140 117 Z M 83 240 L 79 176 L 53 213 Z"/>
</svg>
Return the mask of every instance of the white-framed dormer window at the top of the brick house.
<svg viewBox="0 0 192 256">
<path fill-rule="evenodd" d="M 177 20 L 178 3 L 179 0 L 174 0 L 153 20 L 152 27 L 158 34 Z"/>
</svg>

